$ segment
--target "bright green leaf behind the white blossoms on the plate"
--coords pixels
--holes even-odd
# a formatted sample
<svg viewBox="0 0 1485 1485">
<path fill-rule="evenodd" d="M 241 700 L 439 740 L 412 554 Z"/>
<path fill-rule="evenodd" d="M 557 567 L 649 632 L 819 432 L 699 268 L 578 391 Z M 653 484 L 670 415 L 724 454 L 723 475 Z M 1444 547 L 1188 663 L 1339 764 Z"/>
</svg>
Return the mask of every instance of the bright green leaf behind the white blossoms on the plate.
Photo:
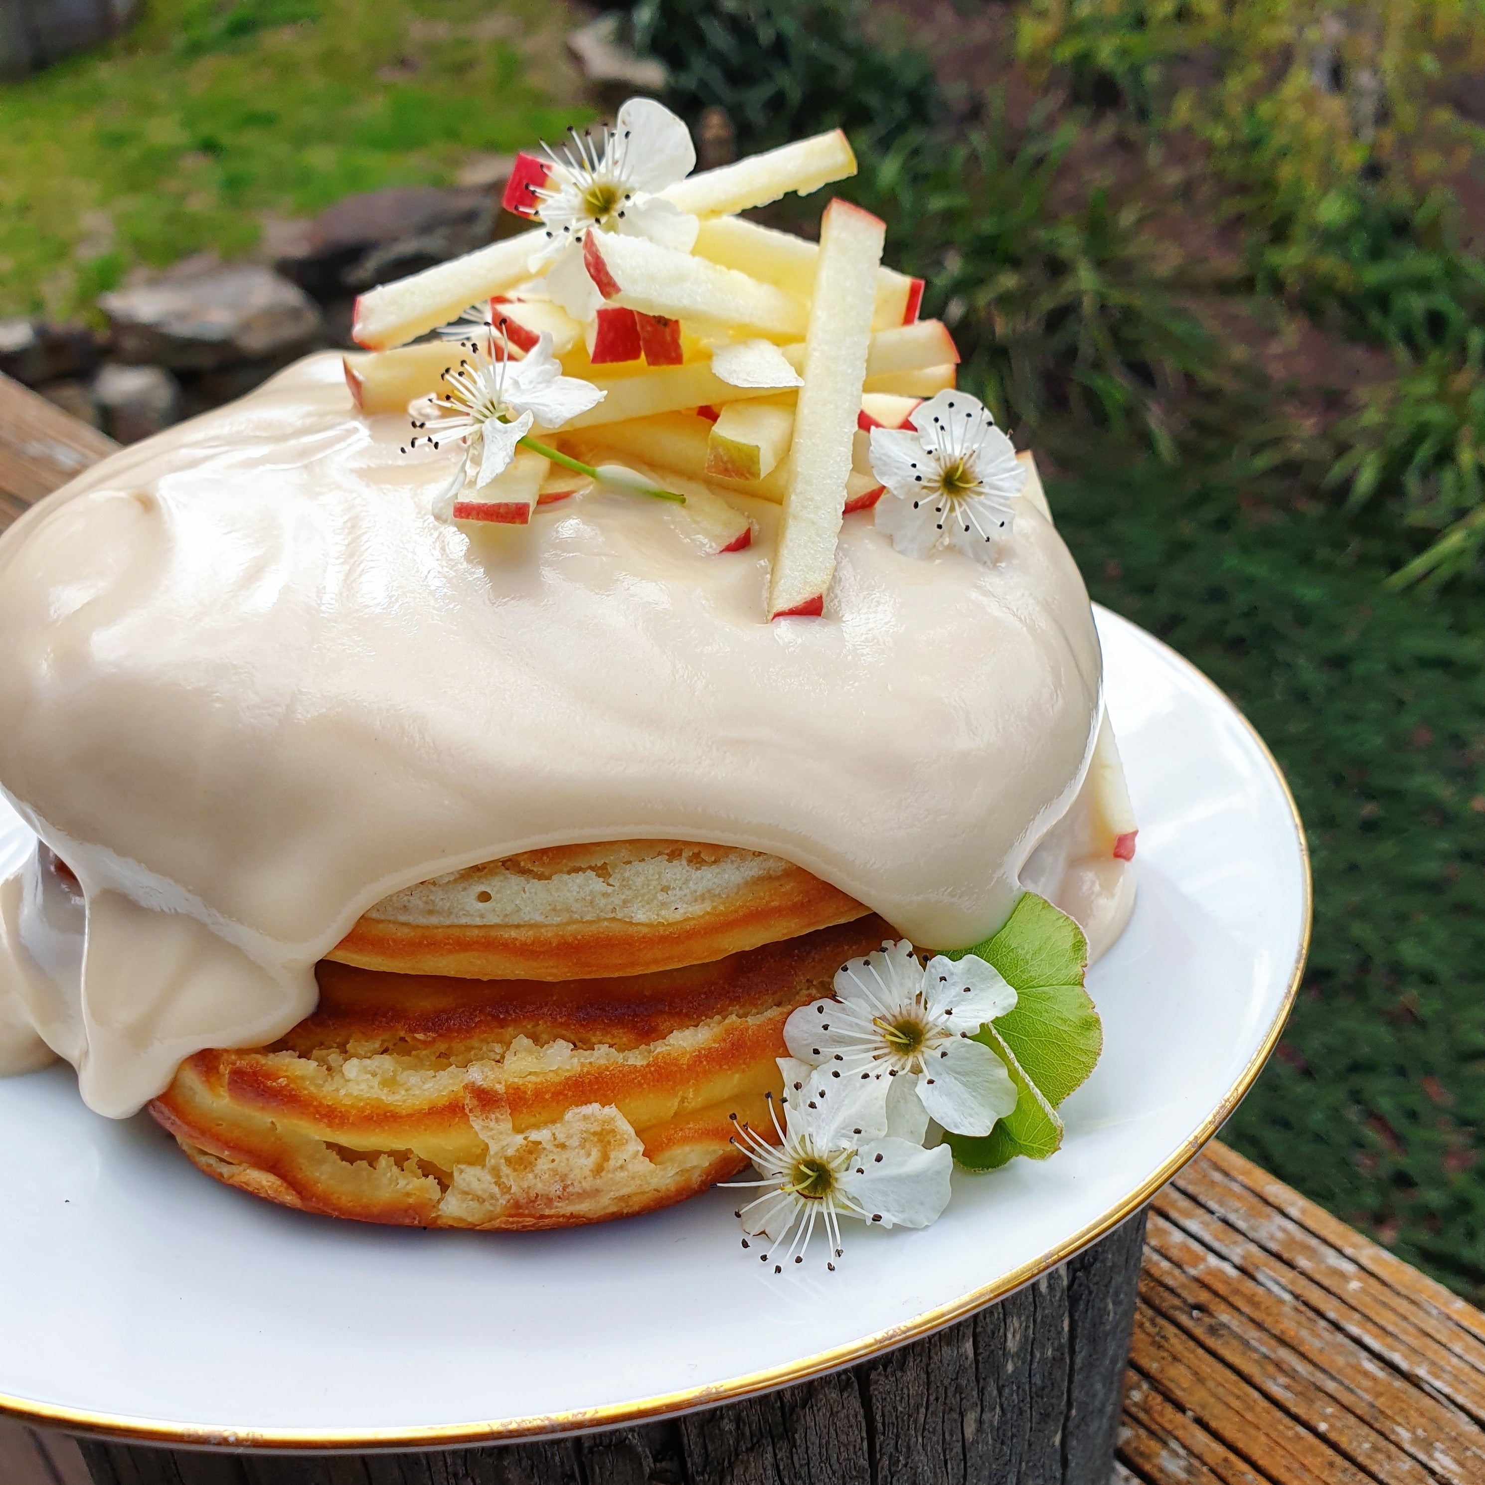
<svg viewBox="0 0 1485 1485">
<path fill-rule="evenodd" d="M 955 1136 L 950 1148 L 971 1170 L 993 1170 L 1011 1155 L 1045 1160 L 1062 1143 L 1062 1121 L 1053 1111 L 1089 1077 L 1103 1050 L 1103 1025 L 1083 988 L 1087 940 L 1066 913 L 1023 892 L 993 939 L 946 958 L 967 953 L 999 970 L 1016 990 L 1016 1008 L 977 1040 L 999 1054 L 1020 1097 L 1016 1112 L 983 1139 Z"/>
</svg>

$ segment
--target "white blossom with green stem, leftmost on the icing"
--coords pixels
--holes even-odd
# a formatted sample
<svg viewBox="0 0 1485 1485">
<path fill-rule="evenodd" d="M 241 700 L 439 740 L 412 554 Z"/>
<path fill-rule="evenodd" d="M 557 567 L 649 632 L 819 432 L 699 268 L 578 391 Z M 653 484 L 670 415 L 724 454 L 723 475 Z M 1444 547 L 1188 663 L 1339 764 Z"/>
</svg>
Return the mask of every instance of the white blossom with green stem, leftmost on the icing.
<svg viewBox="0 0 1485 1485">
<path fill-rule="evenodd" d="M 408 408 L 413 426 L 423 429 L 408 447 L 423 443 L 440 448 L 454 438 L 463 443 L 459 468 L 434 502 L 441 521 L 451 520 L 454 497 L 471 469 L 475 489 L 484 489 L 509 468 L 517 444 L 533 426 L 561 428 L 607 395 L 591 382 L 561 374 L 552 337 L 545 331 L 520 361 L 511 359 L 509 342 L 497 347 L 493 334 L 484 346 L 478 340 L 466 345 L 469 356 L 444 371 L 446 391 L 419 398 Z"/>
</svg>

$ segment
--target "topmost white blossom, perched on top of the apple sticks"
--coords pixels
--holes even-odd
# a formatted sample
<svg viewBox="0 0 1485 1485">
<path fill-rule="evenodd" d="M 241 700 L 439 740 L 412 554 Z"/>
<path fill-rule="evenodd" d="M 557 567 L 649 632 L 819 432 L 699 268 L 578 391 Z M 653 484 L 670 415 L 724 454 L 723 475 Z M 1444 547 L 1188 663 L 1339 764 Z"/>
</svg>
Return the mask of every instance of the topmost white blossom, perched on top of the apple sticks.
<svg viewBox="0 0 1485 1485">
<path fill-rule="evenodd" d="M 597 140 L 569 132 L 572 143 L 560 154 L 544 146 L 549 174 L 545 186 L 532 189 L 546 229 L 546 245 L 532 267 L 581 245 L 593 227 L 649 238 L 677 252 L 692 249 L 696 218 L 659 195 L 696 168 L 691 131 L 670 108 L 631 98 L 619 108 L 618 123 L 604 125 Z"/>
</svg>

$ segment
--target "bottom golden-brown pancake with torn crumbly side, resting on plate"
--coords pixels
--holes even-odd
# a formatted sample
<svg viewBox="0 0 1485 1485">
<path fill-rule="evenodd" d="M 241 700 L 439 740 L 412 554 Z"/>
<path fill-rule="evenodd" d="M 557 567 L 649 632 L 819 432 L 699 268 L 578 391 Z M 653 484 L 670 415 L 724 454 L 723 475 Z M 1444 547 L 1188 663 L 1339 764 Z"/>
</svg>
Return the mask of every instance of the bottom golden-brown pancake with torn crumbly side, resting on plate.
<svg viewBox="0 0 1485 1485">
<path fill-rule="evenodd" d="M 208 1175 L 404 1227 L 533 1230 L 670 1206 L 768 1130 L 790 1011 L 878 947 L 875 916 L 710 964 L 471 980 L 321 962 L 272 1045 L 189 1057 L 150 1112 Z"/>
</svg>

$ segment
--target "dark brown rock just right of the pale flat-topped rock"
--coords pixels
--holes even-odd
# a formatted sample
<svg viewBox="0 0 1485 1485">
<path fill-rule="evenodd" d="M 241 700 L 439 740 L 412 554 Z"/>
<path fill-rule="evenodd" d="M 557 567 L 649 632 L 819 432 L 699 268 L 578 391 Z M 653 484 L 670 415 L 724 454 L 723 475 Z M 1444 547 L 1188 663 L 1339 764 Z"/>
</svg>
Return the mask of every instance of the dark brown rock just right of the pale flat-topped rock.
<svg viewBox="0 0 1485 1485">
<path fill-rule="evenodd" d="M 316 298 L 373 288 L 484 247 L 495 205 L 484 184 L 395 186 L 347 196 L 315 218 L 301 248 L 281 257 L 278 270 Z"/>
</svg>

